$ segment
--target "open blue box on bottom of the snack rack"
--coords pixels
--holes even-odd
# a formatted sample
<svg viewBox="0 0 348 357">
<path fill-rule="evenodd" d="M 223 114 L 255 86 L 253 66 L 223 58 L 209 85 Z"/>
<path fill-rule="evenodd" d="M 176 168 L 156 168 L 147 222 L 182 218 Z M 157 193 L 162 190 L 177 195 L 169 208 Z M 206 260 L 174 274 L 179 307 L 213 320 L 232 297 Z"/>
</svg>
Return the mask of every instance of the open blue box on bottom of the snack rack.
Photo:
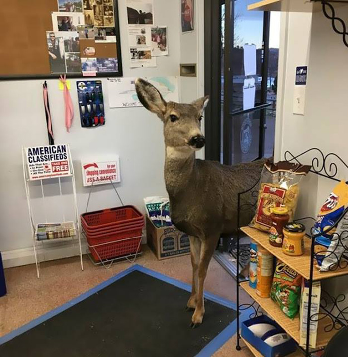
<svg viewBox="0 0 348 357">
<path fill-rule="evenodd" d="M 254 346 L 263 356 L 265 357 L 282 357 L 287 356 L 294 351 L 296 351 L 297 344 L 295 340 L 291 339 L 281 345 L 271 347 L 267 345 L 260 337 L 257 337 L 253 334 L 251 330 L 249 330 L 249 326 L 257 324 L 257 323 L 268 323 L 272 324 L 275 327 L 282 329 L 275 321 L 270 319 L 269 317 L 262 315 L 258 316 L 254 319 L 246 320 L 242 322 L 242 337 L 248 341 L 252 346 Z"/>
</svg>

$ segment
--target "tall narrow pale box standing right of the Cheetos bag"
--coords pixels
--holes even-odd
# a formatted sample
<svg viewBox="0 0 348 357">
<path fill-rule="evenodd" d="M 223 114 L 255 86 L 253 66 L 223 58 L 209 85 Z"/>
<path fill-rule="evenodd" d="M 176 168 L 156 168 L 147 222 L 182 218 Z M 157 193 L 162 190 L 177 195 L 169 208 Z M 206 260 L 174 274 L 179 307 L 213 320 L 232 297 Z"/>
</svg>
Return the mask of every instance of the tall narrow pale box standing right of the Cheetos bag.
<svg viewBox="0 0 348 357">
<path fill-rule="evenodd" d="M 307 336 L 307 312 L 308 312 L 309 285 L 305 279 L 302 279 L 301 300 L 300 300 L 300 346 L 306 347 Z M 309 328 L 309 346 L 316 348 L 317 330 L 318 330 L 318 313 L 320 307 L 320 281 L 313 282 L 312 285 L 312 303 L 311 316 L 315 315 L 317 321 L 310 322 Z"/>
</svg>

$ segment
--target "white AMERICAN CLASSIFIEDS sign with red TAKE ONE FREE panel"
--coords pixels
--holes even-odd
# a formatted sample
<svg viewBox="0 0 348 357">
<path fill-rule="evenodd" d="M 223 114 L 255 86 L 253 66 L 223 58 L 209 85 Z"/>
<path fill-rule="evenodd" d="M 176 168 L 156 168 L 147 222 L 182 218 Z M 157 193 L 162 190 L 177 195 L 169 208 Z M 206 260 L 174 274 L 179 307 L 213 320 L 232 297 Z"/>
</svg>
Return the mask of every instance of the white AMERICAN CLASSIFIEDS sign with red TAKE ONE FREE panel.
<svg viewBox="0 0 348 357">
<path fill-rule="evenodd" d="M 25 156 L 31 181 L 72 175 L 66 144 L 26 147 Z"/>
</svg>

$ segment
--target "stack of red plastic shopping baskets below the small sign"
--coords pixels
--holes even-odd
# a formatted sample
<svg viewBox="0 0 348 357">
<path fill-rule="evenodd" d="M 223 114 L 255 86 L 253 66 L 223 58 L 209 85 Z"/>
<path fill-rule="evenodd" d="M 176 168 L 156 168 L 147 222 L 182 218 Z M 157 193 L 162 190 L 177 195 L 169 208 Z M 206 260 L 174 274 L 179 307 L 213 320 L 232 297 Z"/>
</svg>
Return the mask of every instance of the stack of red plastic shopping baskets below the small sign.
<svg viewBox="0 0 348 357">
<path fill-rule="evenodd" d="M 141 249 L 144 215 L 134 206 L 84 213 L 81 225 L 96 261 L 136 254 Z"/>
</svg>

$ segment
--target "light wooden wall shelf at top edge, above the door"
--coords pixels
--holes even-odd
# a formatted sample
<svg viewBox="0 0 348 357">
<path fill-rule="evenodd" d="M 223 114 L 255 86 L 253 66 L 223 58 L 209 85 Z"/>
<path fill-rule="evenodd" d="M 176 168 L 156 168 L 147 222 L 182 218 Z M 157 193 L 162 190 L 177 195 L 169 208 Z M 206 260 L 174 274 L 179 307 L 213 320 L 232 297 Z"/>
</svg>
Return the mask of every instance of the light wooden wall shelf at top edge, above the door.
<svg viewBox="0 0 348 357">
<path fill-rule="evenodd" d="M 344 0 L 348 3 L 348 0 Z M 335 3 L 335 6 L 346 4 Z M 309 0 L 262 0 L 248 6 L 248 10 L 254 11 L 282 11 L 282 12 L 318 12 L 321 11 L 320 2 Z"/>
</svg>

